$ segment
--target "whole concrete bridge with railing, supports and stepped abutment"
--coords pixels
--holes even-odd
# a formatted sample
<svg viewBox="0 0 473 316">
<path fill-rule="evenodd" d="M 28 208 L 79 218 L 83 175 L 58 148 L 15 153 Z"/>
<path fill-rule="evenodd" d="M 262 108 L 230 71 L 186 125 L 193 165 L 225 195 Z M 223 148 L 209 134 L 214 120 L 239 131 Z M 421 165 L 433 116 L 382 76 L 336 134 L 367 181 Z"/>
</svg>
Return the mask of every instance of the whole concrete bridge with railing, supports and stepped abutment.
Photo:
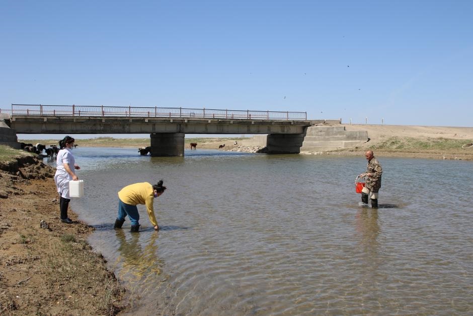
<svg viewBox="0 0 473 316">
<path fill-rule="evenodd" d="M 307 129 L 320 123 L 340 120 L 307 120 L 305 112 L 232 111 L 183 108 L 78 107 L 12 105 L 12 114 L 3 115 L 10 131 L 0 134 L 12 140 L 19 134 L 149 134 L 151 156 L 184 156 L 185 134 L 264 134 L 268 153 L 300 153 Z M 27 107 L 26 109 L 24 107 Z M 2 110 L 4 112 L 4 110 Z M 303 114 L 303 117 L 300 118 Z M 295 117 L 295 118 L 294 118 Z M 5 126 L 4 126 L 5 127 Z M 0 127 L 2 129 L 2 127 Z M 338 127 L 340 130 L 340 127 Z M 342 127 L 342 130 L 345 129 Z M 345 132 L 337 132 L 343 147 Z M 322 135 L 324 132 L 318 132 Z M 325 135 L 325 134 L 324 134 Z M 325 142 L 334 132 L 327 130 Z M 5 138 L 4 137 L 4 138 Z M 342 139 L 343 138 L 343 139 Z M 350 144 L 364 142 L 364 136 L 349 136 Z M 0 143 L 2 140 L 0 139 Z M 5 143 L 5 140 L 4 140 Z M 14 143 L 14 142 L 11 142 Z M 348 144 L 347 143 L 347 144 Z M 15 146 L 16 147 L 16 146 Z M 313 147 L 313 146 L 312 146 Z M 333 146 L 332 146 L 333 147 Z"/>
</svg>

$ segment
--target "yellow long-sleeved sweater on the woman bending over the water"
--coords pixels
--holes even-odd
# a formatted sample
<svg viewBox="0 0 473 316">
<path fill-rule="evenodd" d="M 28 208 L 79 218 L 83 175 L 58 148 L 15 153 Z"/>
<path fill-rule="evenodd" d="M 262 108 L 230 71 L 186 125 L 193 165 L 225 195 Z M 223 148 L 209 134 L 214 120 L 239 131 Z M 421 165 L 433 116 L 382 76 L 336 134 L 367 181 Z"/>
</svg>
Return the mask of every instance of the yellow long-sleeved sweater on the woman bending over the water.
<svg viewBox="0 0 473 316">
<path fill-rule="evenodd" d="M 149 221 L 153 226 L 157 225 L 156 218 L 154 217 L 153 201 L 154 191 L 153 186 L 148 182 L 134 183 L 125 186 L 118 192 L 118 198 L 129 205 L 146 205 L 146 211 L 148 211 Z"/>
</svg>

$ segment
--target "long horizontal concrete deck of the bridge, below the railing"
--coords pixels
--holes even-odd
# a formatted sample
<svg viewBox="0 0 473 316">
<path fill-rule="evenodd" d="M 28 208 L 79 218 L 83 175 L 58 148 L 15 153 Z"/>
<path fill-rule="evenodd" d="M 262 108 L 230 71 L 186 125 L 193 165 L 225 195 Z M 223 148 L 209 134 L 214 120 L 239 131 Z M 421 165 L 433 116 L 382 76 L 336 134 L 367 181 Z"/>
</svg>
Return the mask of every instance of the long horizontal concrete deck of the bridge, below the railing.
<svg viewBox="0 0 473 316">
<path fill-rule="evenodd" d="M 314 121 L 14 115 L 19 134 L 302 134 Z"/>
</svg>

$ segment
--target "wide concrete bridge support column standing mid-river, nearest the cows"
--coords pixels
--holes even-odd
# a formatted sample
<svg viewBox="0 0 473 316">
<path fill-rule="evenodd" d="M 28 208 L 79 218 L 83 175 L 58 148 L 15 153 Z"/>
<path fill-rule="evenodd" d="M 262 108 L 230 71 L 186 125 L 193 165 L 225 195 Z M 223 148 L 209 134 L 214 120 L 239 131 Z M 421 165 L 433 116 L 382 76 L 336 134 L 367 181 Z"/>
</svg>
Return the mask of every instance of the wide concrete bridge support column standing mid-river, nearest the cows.
<svg viewBox="0 0 473 316">
<path fill-rule="evenodd" d="M 184 156 L 184 133 L 150 134 L 152 157 Z"/>
</svg>

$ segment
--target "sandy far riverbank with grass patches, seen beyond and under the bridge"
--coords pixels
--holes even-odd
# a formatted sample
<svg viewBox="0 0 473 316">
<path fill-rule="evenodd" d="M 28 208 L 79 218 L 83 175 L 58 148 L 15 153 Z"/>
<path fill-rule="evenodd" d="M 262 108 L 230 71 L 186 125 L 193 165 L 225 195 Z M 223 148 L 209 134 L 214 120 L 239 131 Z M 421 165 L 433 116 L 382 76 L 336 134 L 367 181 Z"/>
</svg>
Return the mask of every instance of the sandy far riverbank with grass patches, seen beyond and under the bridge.
<svg viewBox="0 0 473 316">
<path fill-rule="evenodd" d="M 473 142 L 473 128 L 469 127 L 432 127 L 417 125 L 368 125 L 342 124 L 347 131 L 367 131 L 369 142 L 362 145 L 330 152 L 313 154 L 363 156 L 368 149 L 373 150 L 378 157 L 404 157 L 424 159 L 458 159 L 473 160 L 473 146 L 462 148 Z M 261 146 L 242 146 L 242 141 L 249 138 L 192 138 L 186 137 L 185 148 L 190 143 L 197 143 L 197 149 L 257 152 Z M 25 143 L 54 144 L 55 140 L 19 140 Z M 238 145 L 234 145 L 237 141 Z M 128 147 L 138 148 L 149 146 L 146 138 L 115 139 L 98 137 L 94 139 L 77 140 L 76 144 L 85 147 Z M 264 152 L 264 149 L 263 149 Z"/>
</svg>

